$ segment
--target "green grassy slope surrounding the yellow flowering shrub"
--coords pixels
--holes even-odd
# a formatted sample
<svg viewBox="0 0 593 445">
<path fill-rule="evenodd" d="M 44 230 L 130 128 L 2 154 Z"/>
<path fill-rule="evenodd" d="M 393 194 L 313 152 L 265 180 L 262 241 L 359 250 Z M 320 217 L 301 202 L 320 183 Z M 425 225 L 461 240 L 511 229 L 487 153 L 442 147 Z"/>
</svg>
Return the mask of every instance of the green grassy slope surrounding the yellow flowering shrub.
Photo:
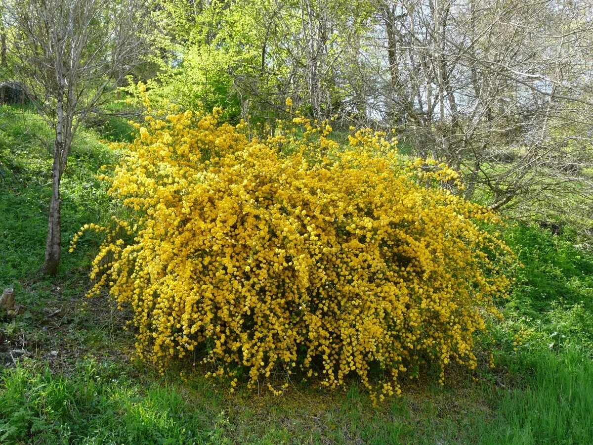
<svg viewBox="0 0 593 445">
<path fill-rule="evenodd" d="M 117 120 L 108 136 L 125 137 Z M 593 437 L 593 258 L 570 236 L 511 225 L 505 237 L 525 268 L 505 322 L 493 330 L 496 363 L 473 376 L 451 370 L 406 384 L 373 408 L 356 382 L 325 394 L 296 385 L 276 398 L 191 373 L 157 376 L 132 364 L 133 338 L 106 297 L 85 300 L 97 240 L 37 275 L 49 199 L 50 132 L 31 113 L 0 109 L 0 288 L 14 285 L 15 319 L 0 323 L 0 443 L 586 443 Z M 79 136 L 63 183 L 63 243 L 107 218 L 94 179 L 113 154 Z M 514 335 L 524 338 L 514 345 Z M 14 352 L 25 349 L 27 352 Z M 12 353 L 11 355 L 11 352 Z M 14 361 L 18 362 L 14 366 Z M 477 378 L 477 381 L 473 379 Z"/>
</svg>

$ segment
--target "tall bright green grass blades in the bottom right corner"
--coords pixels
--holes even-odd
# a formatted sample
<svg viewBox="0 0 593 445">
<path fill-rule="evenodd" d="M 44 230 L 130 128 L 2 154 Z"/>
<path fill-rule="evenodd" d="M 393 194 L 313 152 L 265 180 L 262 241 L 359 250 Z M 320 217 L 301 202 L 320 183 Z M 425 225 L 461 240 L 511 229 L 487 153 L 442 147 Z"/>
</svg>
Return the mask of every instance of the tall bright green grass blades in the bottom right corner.
<svg viewBox="0 0 593 445">
<path fill-rule="evenodd" d="M 568 348 L 525 349 L 507 363 L 521 384 L 497 389 L 482 443 L 581 444 L 593 437 L 593 362 Z"/>
</svg>

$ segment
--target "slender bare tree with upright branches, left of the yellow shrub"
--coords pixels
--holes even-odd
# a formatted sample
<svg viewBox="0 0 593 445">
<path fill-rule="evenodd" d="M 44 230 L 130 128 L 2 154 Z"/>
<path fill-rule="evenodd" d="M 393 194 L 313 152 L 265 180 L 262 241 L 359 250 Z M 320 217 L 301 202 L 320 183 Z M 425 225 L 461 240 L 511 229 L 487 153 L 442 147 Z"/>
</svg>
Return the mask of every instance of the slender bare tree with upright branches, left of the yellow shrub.
<svg viewBox="0 0 593 445">
<path fill-rule="evenodd" d="M 7 51 L 55 131 L 43 272 L 60 261 L 60 180 L 72 140 L 92 110 L 149 52 L 146 0 L 2 0 Z"/>
</svg>

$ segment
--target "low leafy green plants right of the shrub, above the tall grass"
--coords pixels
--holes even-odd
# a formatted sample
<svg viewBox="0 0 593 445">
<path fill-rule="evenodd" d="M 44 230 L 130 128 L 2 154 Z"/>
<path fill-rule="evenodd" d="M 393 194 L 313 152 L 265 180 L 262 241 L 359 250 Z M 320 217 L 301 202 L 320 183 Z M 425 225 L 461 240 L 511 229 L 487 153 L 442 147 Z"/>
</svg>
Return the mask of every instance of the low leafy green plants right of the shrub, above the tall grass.
<svg viewBox="0 0 593 445">
<path fill-rule="evenodd" d="M 570 233 L 524 224 L 511 224 L 503 238 L 524 265 L 505 305 L 508 332 L 593 357 L 593 253 L 577 247 Z"/>
</svg>

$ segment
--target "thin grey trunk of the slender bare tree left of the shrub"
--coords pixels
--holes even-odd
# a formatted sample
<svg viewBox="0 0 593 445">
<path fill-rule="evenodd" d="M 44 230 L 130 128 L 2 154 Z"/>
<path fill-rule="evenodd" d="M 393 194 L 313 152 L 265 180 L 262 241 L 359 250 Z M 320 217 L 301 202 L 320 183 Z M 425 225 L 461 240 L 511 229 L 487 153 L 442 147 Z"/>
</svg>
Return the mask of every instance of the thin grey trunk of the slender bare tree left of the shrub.
<svg viewBox="0 0 593 445">
<path fill-rule="evenodd" d="M 57 145 L 57 142 L 56 142 Z M 47 227 L 47 243 L 45 247 L 45 262 L 43 273 L 56 275 L 60 264 L 61 237 L 60 231 L 60 181 L 62 180 L 62 169 L 60 168 L 59 147 L 54 148 L 53 173 L 52 173 L 52 198 L 49 202 L 49 224 Z"/>
</svg>

